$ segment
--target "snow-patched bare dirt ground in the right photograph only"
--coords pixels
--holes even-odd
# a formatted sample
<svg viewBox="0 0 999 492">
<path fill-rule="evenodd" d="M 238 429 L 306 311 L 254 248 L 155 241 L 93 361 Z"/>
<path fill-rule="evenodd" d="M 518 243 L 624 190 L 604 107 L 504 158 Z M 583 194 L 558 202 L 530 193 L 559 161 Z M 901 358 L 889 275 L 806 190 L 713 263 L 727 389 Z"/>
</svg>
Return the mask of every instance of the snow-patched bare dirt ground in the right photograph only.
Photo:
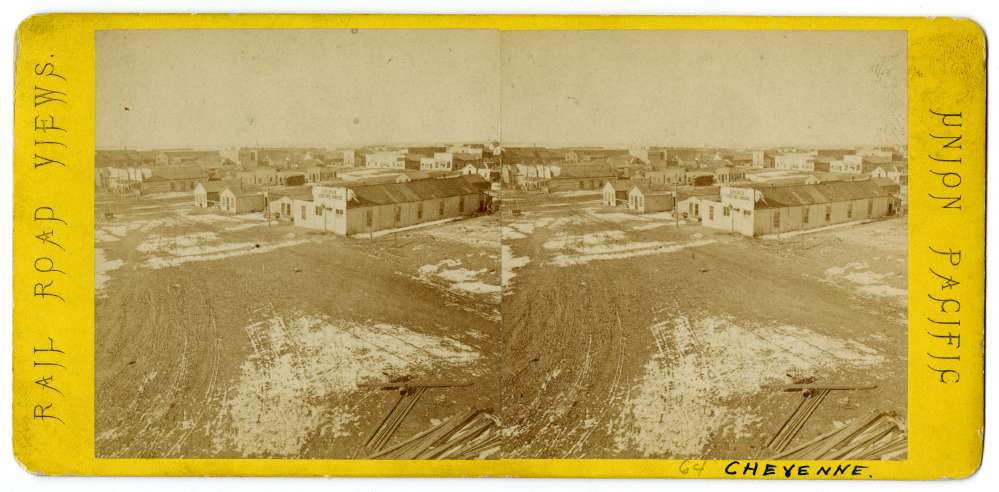
<svg viewBox="0 0 999 492">
<path fill-rule="evenodd" d="M 516 196 L 516 195 L 514 195 Z M 507 457 L 754 458 L 906 409 L 905 218 L 750 239 L 598 194 L 520 195 L 503 218 Z M 794 378 L 794 379 L 792 379 Z"/>
</svg>

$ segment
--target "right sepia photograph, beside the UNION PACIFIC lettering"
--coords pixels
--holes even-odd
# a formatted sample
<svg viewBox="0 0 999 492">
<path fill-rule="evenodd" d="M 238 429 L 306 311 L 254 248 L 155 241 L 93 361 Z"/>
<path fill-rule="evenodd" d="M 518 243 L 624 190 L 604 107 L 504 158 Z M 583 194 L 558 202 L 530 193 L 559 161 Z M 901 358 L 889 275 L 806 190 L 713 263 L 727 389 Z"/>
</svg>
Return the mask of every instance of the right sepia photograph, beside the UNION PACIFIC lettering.
<svg viewBox="0 0 999 492">
<path fill-rule="evenodd" d="M 906 43 L 502 33 L 503 457 L 906 458 Z"/>
</svg>

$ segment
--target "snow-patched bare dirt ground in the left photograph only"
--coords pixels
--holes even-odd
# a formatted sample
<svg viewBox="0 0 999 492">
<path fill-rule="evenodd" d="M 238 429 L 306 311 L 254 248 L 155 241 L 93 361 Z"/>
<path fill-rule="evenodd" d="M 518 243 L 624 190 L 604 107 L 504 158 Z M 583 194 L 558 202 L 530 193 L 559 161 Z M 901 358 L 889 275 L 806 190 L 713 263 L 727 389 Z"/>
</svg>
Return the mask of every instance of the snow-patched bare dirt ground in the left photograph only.
<svg viewBox="0 0 999 492">
<path fill-rule="evenodd" d="M 359 383 L 472 383 L 395 441 L 499 407 L 495 217 L 355 239 L 189 194 L 97 210 L 98 457 L 364 457 L 397 395 Z"/>
</svg>

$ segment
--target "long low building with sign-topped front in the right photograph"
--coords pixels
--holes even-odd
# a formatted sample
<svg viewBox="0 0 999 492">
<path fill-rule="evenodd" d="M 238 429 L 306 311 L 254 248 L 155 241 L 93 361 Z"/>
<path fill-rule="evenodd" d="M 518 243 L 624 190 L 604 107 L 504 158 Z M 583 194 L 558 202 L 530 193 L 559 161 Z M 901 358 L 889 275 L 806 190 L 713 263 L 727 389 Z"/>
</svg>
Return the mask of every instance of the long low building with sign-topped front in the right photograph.
<svg viewBox="0 0 999 492">
<path fill-rule="evenodd" d="M 872 180 L 792 186 L 723 186 L 702 199 L 701 223 L 745 236 L 788 233 L 897 213 L 895 198 Z"/>
</svg>

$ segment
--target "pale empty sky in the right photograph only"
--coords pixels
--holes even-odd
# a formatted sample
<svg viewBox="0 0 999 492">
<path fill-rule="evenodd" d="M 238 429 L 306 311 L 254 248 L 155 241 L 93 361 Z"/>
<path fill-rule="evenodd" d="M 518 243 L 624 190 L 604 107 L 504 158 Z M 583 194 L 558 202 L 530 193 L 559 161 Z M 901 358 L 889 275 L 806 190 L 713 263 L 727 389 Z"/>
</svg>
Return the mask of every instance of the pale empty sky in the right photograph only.
<svg viewBox="0 0 999 492">
<path fill-rule="evenodd" d="M 503 33 L 504 144 L 905 143 L 903 31 Z"/>
</svg>

